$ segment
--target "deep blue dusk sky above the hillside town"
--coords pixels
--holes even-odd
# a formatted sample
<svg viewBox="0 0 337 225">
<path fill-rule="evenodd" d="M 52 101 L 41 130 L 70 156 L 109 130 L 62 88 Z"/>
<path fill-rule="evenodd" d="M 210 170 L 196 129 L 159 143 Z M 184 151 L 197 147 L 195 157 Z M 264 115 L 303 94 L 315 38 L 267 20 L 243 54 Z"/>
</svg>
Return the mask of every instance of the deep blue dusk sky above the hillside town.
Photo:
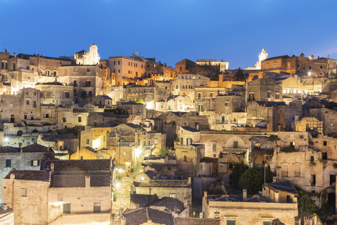
<svg viewBox="0 0 337 225">
<path fill-rule="evenodd" d="M 269 57 L 337 58 L 337 1 L 311 0 L 0 0 L 0 47 L 71 56 L 93 43 L 101 58 L 155 57 L 175 67 L 216 58 L 229 68 Z"/>
</svg>

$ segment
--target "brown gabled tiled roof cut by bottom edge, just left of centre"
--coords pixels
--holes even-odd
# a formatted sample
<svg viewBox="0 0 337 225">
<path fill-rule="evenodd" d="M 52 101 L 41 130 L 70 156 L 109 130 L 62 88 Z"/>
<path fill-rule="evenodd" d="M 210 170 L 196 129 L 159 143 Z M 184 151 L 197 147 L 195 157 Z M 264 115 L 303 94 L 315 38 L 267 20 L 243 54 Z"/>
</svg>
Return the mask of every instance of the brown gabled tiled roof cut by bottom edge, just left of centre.
<svg viewBox="0 0 337 225">
<path fill-rule="evenodd" d="M 157 209 L 140 208 L 123 214 L 126 225 L 144 224 L 151 220 L 155 224 L 174 225 L 173 215 Z"/>
</svg>

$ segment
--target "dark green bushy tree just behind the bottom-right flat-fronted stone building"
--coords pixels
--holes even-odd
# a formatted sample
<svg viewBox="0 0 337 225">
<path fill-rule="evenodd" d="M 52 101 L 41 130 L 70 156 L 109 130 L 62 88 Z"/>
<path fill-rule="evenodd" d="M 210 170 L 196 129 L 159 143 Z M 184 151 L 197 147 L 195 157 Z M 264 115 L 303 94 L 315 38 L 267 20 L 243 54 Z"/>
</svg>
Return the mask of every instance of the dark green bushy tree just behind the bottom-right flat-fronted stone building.
<svg viewBox="0 0 337 225">
<path fill-rule="evenodd" d="M 266 182 L 273 181 L 273 173 L 266 169 Z M 249 195 L 262 191 L 264 184 L 264 168 L 249 168 L 241 176 L 238 182 L 240 189 L 247 189 Z"/>
</svg>

